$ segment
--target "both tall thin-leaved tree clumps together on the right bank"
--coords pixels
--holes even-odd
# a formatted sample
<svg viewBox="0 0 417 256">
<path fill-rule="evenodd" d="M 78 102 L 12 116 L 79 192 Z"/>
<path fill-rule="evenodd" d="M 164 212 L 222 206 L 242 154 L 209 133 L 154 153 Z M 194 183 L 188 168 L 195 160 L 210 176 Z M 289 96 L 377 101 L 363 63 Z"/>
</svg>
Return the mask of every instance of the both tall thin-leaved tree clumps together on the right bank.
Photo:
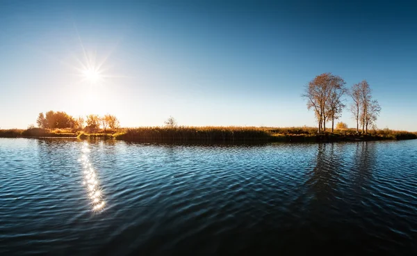
<svg viewBox="0 0 417 256">
<path fill-rule="evenodd" d="M 304 88 L 302 97 L 306 99 L 307 109 L 313 109 L 318 121 L 318 132 L 326 131 L 326 123 L 332 121 L 332 132 L 334 131 L 334 120 L 341 118 L 345 109 L 345 95 L 352 98 L 350 111 L 357 121 L 357 133 L 359 125 L 362 133 L 368 133 L 368 127 L 374 126 L 381 112 L 376 99 L 373 99 L 369 83 L 366 80 L 354 84 L 347 89 L 343 78 L 332 73 L 323 73 L 311 80 Z"/>
</svg>

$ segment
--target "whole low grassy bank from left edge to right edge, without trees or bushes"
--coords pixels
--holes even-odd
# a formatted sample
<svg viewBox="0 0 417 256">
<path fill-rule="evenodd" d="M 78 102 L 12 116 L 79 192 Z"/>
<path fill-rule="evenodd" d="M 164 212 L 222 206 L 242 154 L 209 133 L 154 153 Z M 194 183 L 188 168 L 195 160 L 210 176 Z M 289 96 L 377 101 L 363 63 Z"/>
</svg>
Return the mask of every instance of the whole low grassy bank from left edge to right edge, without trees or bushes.
<svg viewBox="0 0 417 256">
<path fill-rule="evenodd" d="M 77 137 L 115 138 L 139 142 L 329 142 L 379 141 L 417 138 L 416 132 L 378 129 L 357 134 L 354 129 L 335 130 L 317 134 L 313 127 L 138 127 L 126 129 L 8 129 L 0 137 Z"/>
</svg>

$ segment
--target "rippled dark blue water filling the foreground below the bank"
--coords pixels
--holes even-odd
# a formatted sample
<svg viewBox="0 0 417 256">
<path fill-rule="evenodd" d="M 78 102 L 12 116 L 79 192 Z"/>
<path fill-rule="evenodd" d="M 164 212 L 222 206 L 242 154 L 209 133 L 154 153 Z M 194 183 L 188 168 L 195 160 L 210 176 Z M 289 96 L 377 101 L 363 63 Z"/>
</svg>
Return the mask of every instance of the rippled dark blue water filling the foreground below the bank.
<svg viewBox="0 0 417 256">
<path fill-rule="evenodd" d="M 0 138 L 0 255 L 415 255 L 416 154 Z"/>
</svg>

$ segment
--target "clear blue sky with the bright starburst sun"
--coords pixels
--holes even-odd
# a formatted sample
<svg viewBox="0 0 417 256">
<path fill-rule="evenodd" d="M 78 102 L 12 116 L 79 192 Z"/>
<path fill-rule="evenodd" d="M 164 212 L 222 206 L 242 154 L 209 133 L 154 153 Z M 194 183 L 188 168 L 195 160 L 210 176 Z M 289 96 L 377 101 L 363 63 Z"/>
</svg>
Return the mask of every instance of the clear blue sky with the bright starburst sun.
<svg viewBox="0 0 417 256">
<path fill-rule="evenodd" d="M 316 126 L 301 95 L 332 72 L 368 81 L 377 127 L 417 131 L 416 12 L 412 1 L 0 1 L 0 129 L 49 110 L 123 127 L 170 115 Z M 340 121 L 355 127 L 348 111 Z"/>
</svg>

